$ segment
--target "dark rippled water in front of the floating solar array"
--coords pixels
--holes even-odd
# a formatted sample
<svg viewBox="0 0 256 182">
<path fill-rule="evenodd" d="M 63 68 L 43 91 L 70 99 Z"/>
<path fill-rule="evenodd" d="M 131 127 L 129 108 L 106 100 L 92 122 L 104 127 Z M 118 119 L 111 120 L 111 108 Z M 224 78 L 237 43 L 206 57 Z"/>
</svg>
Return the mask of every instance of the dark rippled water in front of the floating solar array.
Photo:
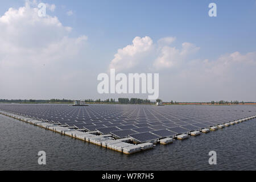
<svg viewBox="0 0 256 182">
<path fill-rule="evenodd" d="M 255 170 L 256 119 L 125 155 L 0 114 L 1 170 Z M 46 151 L 46 165 L 38 151 Z M 209 151 L 217 165 L 209 165 Z"/>
</svg>

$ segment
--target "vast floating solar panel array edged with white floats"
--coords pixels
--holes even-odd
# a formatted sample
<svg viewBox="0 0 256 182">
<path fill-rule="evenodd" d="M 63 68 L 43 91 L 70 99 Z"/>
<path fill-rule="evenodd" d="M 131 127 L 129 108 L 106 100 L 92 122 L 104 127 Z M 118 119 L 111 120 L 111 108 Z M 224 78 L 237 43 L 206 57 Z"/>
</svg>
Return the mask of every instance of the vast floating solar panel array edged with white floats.
<svg viewBox="0 0 256 182">
<path fill-rule="evenodd" d="M 255 105 L 0 104 L 0 113 L 125 154 L 255 118 Z"/>
</svg>

